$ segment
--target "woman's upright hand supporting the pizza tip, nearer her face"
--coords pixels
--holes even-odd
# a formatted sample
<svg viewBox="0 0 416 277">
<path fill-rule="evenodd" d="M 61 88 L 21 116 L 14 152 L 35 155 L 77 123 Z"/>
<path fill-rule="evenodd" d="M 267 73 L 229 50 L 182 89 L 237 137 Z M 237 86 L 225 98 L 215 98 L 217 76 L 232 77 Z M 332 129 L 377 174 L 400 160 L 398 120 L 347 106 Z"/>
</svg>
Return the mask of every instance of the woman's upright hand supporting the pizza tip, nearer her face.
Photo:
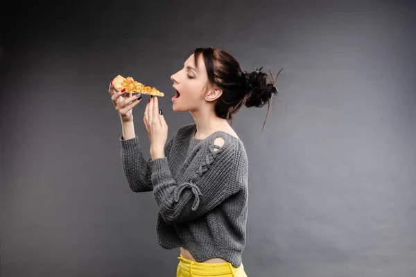
<svg viewBox="0 0 416 277">
<path fill-rule="evenodd" d="M 168 139 L 168 125 L 159 109 L 157 96 L 149 98 L 144 111 L 144 125 L 150 140 L 150 157 L 154 159 L 164 158 L 164 145 Z"/>
</svg>

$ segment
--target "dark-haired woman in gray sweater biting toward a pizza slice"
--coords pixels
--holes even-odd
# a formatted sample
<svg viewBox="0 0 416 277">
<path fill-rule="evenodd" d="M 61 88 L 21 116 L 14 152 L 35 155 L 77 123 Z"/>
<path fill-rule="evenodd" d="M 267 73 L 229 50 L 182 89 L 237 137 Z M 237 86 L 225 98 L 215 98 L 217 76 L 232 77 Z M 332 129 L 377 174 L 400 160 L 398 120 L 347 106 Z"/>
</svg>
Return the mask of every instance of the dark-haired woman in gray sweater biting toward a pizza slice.
<svg viewBox="0 0 416 277">
<path fill-rule="evenodd" d="M 241 256 L 248 216 L 248 159 L 228 120 L 242 105 L 268 103 L 270 108 L 276 80 L 261 69 L 243 71 L 219 48 L 196 48 L 171 80 L 173 110 L 189 111 L 195 123 L 183 125 L 168 139 L 159 99 L 150 97 L 143 118 L 150 139 L 148 160 L 132 116 L 141 96 L 127 93 L 123 98 L 124 91 L 110 84 L 123 127 L 125 177 L 135 193 L 153 192 L 159 206 L 157 242 L 164 249 L 180 248 L 176 276 L 246 276 Z"/>
</svg>

